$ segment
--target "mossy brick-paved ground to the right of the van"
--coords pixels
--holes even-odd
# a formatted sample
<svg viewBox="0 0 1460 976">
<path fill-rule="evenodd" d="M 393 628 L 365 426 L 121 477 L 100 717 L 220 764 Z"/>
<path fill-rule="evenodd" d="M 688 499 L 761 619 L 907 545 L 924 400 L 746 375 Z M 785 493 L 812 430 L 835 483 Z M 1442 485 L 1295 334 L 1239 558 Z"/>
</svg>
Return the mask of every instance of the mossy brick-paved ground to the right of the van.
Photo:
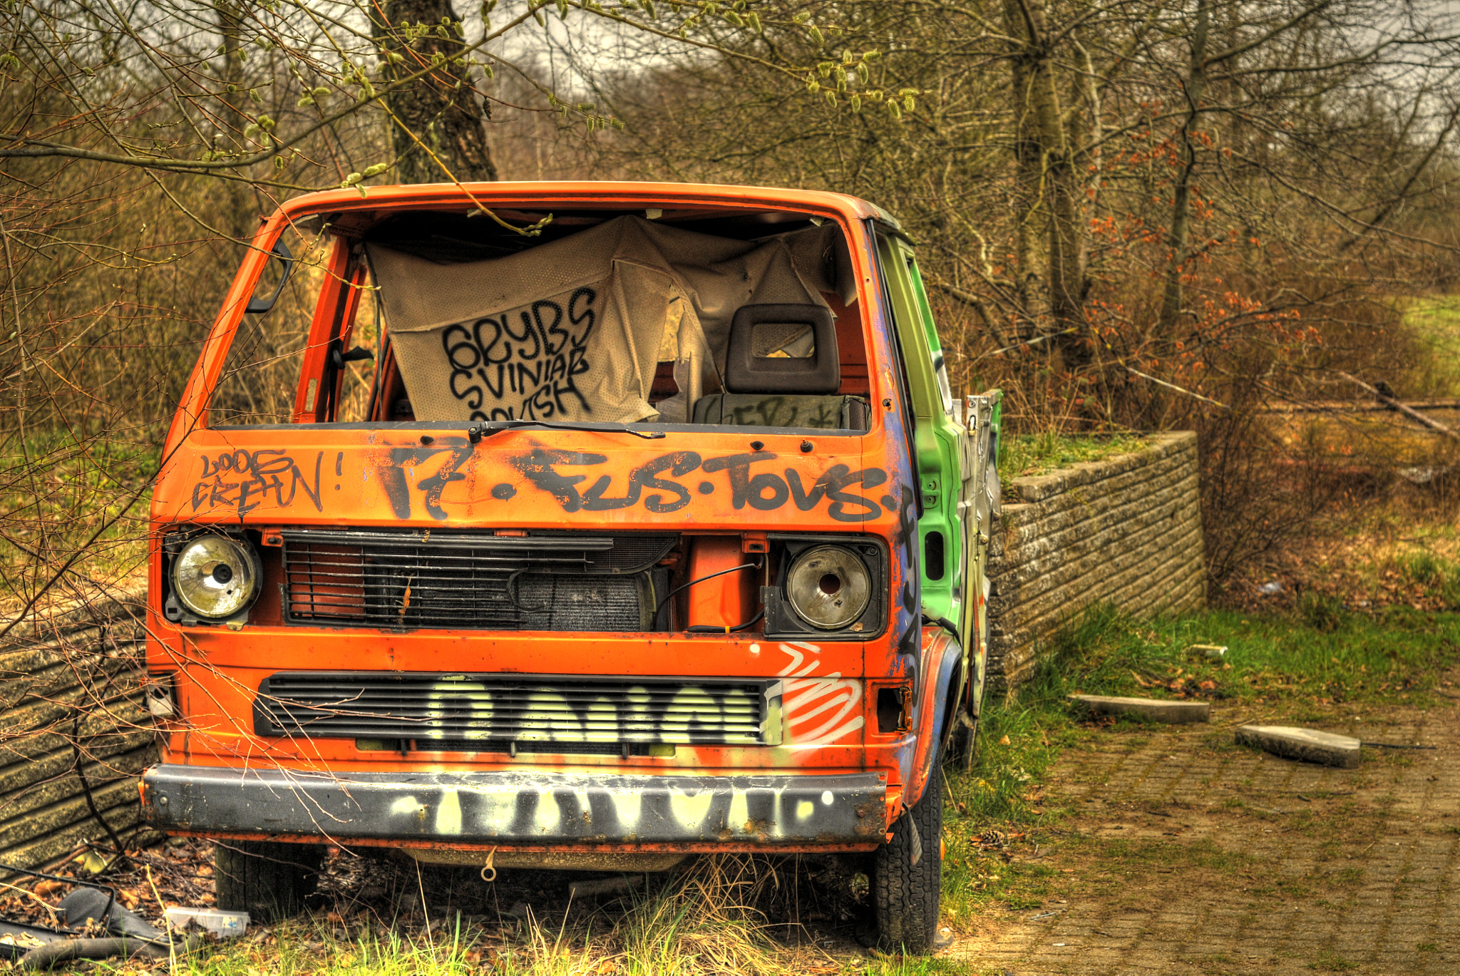
<svg viewBox="0 0 1460 976">
<path fill-rule="evenodd" d="M 1460 972 L 1460 700 L 1356 709 L 1092 732 L 1045 786 L 1075 815 L 1016 856 L 1051 869 L 1042 906 L 986 913 L 948 956 L 1018 976 Z M 1336 770 L 1240 748 L 1242 723 L 1431 748 Z"/>
</svg>

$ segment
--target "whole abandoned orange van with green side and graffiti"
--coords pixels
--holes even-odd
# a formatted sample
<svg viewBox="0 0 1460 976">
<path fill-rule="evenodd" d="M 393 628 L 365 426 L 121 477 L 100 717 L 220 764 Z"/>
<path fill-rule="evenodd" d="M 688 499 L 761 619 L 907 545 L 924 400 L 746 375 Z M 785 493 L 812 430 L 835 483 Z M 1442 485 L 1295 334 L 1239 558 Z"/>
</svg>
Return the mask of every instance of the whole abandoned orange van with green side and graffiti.
<svg viewBox="0 0 1460 976">
<path fill-rule="evenodd" d="M 996 437 L 861 200 L 292 200 L 168 434 L 146 817 L 225 839 L 219 906 L 267 915 L 326 845 L 485 878 L 850 858 L 924 951 Z"/>
</svg>

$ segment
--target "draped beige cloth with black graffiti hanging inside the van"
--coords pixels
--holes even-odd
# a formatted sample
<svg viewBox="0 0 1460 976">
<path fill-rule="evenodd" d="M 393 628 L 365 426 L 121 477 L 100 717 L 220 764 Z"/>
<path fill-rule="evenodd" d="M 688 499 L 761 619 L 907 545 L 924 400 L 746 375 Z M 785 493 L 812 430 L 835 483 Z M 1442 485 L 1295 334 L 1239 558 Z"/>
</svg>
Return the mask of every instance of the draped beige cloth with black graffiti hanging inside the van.
<svg viewBox="0 0 1460 976">
<path fill-rule="evenodd" d="M 828 281 L 841 253 L 826 231 L 841 240 L 829 225 L 740 241 L 620 216 L 492 260 L 380 245 L 369 259 L 418 419 L 656 419 L 654 368 L 675 362 L 682 393 L 663 419 L 682 421 L 720 387 L 736 310 L 845 289 Z"/>
</svg>

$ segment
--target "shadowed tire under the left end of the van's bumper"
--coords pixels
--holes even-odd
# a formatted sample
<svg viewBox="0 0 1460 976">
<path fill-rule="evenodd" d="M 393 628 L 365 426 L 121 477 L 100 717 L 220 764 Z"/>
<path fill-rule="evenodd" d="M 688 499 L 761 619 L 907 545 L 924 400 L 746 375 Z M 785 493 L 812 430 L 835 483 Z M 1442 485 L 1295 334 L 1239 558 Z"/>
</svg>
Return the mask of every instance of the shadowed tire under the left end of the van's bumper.
<svg viewBox="0 0 1460 976">
<path fill-rule="evenodd" d="M 304 910 L 320 880 L 324 847 L 276 840 L 219 840 L 213 847 L 218 907 L 274 922 Z"/>
</svg>

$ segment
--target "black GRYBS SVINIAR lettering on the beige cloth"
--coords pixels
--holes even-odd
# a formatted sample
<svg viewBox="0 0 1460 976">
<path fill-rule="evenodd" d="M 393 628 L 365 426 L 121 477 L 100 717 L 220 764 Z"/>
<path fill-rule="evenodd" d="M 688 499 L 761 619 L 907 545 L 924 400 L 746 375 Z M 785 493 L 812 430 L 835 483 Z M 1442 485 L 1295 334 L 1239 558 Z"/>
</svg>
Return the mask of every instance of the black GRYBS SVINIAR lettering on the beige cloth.
<svg viewBox="0 0 1460 976">
<path fill-rule="evenodd" d="M 566 314 L 555 301 L 534 301 L 517 313 L 521 330 L 514 330 L 508 314 L 477 319 L 470 329 L 466 323 L 447 326 L 441 343 L 451 367 L 451 396 L 472 411 L 474 421 L 550 419 L 568 412 L 574 400 L 591 413 L 577 377 L 590 371 L 594 301 L 597 292 L 591 288 L 572 292 Z M 488 408 L 488 397 L 505 402 Z"/>
</svg>

